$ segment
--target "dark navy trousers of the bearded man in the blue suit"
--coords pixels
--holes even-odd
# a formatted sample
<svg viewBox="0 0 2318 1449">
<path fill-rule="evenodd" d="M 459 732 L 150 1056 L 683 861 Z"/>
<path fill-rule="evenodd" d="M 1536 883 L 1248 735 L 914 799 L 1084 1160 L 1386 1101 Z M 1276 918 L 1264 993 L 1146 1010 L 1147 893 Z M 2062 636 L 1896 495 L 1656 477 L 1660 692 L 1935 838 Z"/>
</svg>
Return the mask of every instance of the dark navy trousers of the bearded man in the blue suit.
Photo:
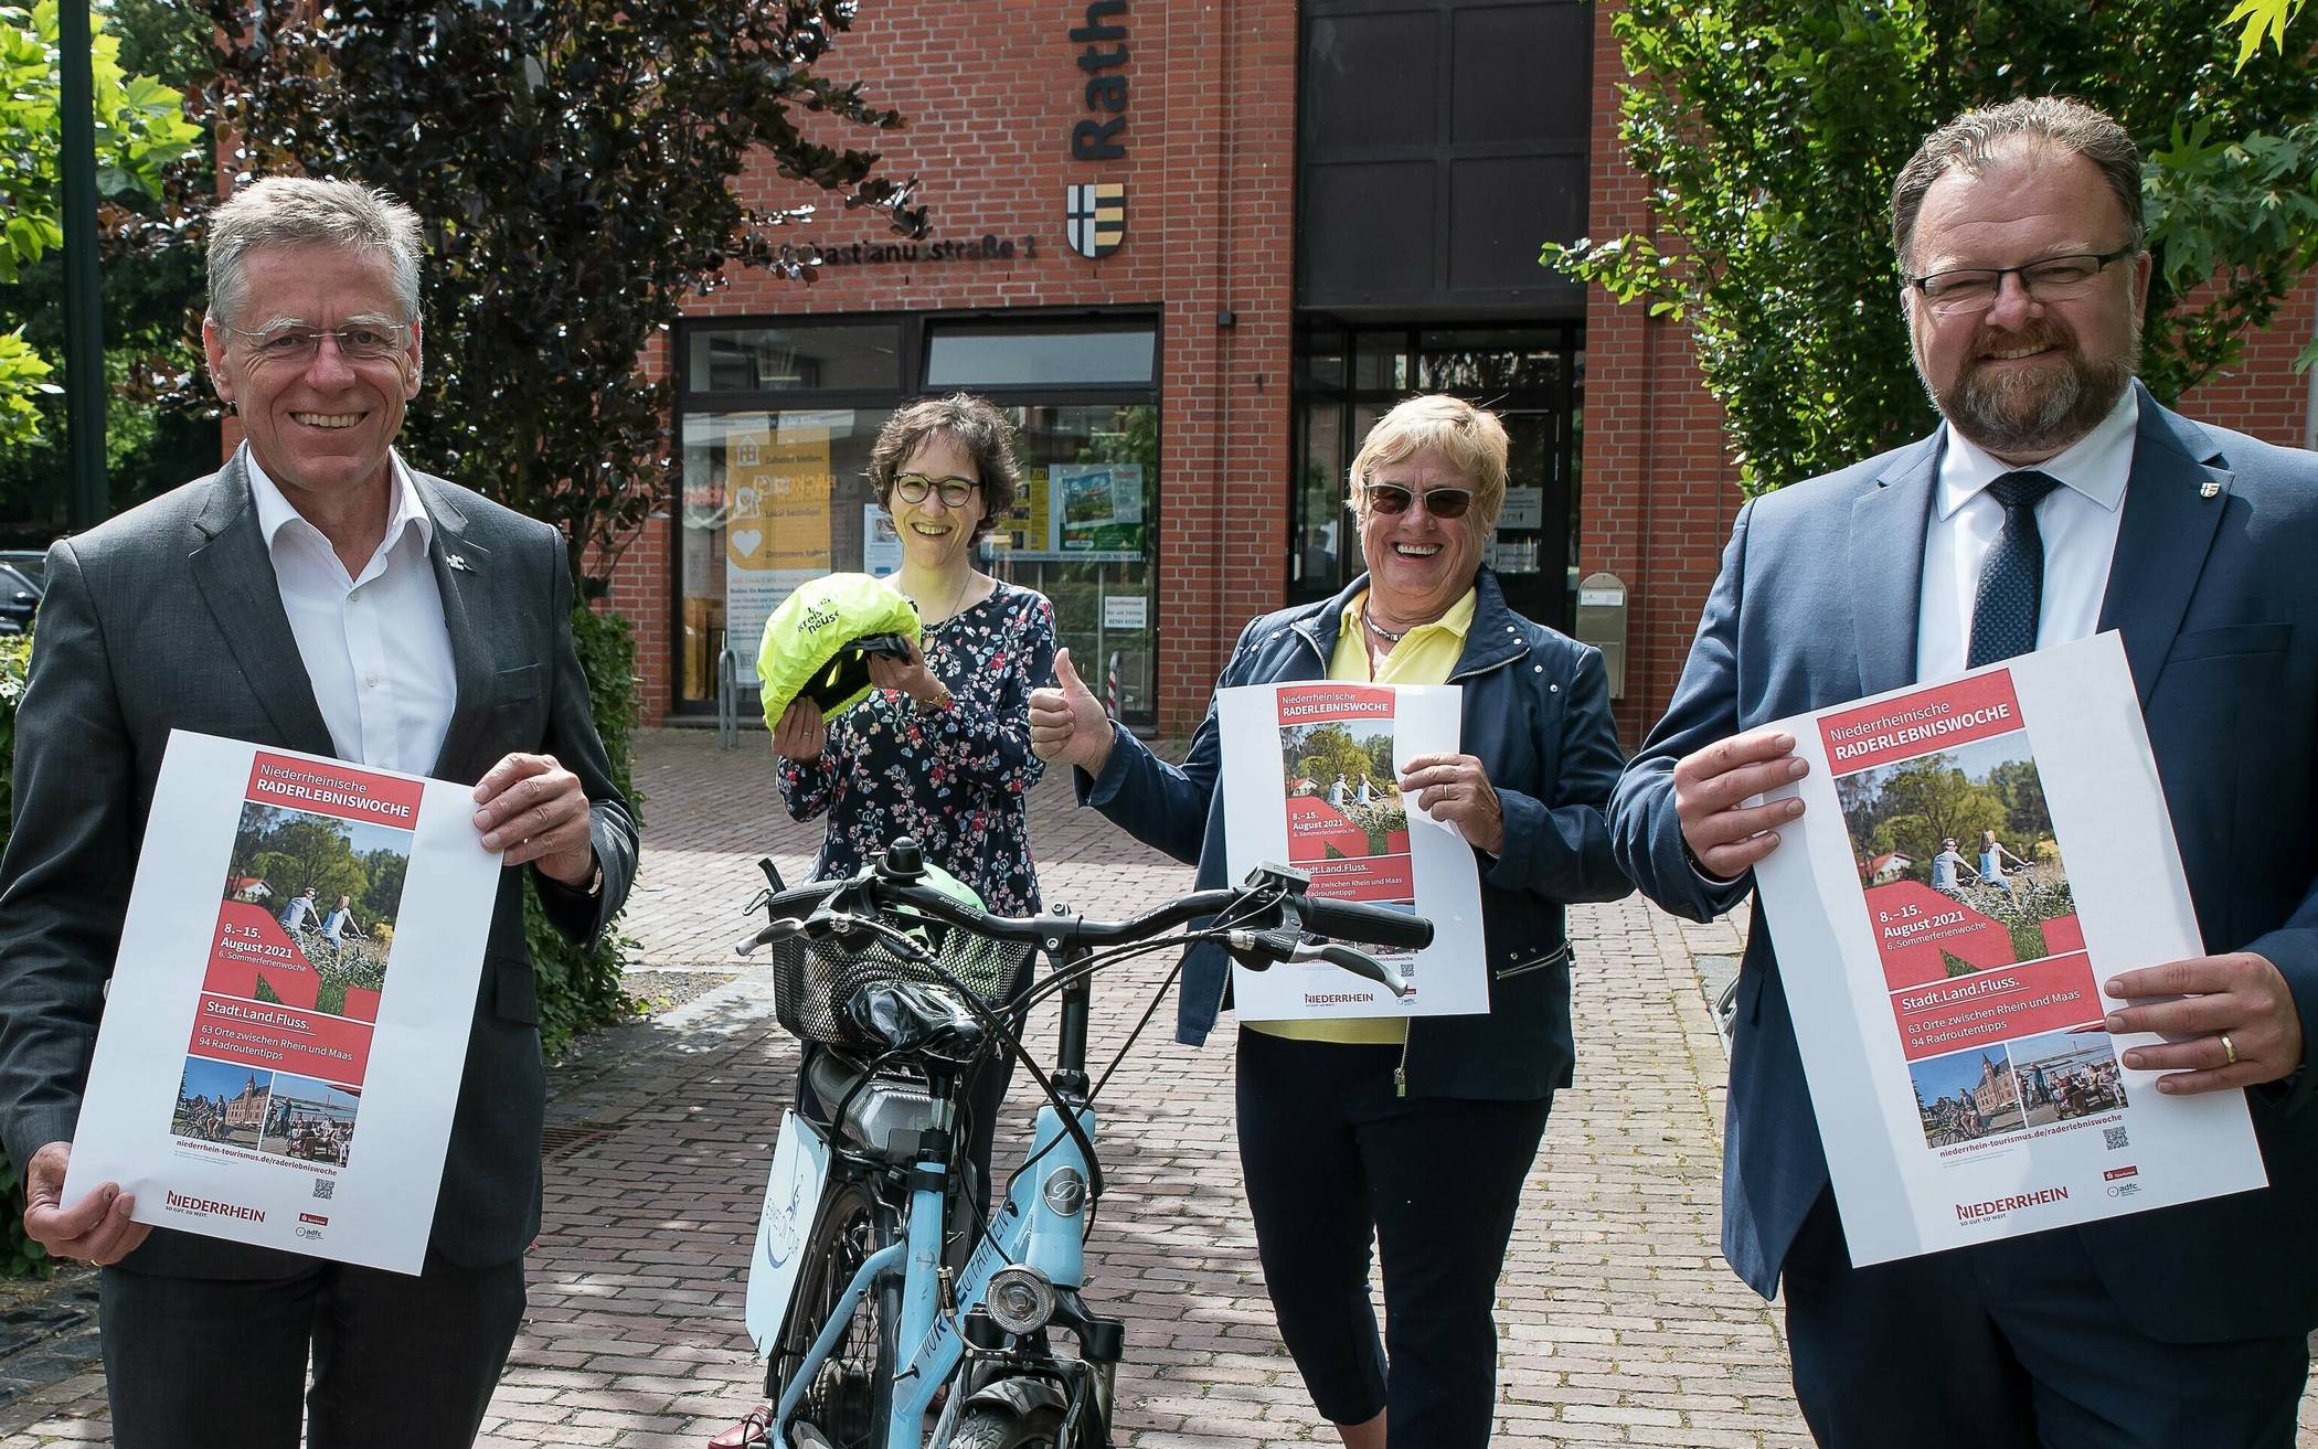
<svg viewBox="0 0 2318 1449">
<path fill-rule="evenodd" d="M 1794 1396 L 1829 1449 L 2293 1449 L 2309 1345 L 2158 1342 L 2070 1229 L 1852 1268 L 1834 1194 L 1785 1266 Z"/>
</svg>

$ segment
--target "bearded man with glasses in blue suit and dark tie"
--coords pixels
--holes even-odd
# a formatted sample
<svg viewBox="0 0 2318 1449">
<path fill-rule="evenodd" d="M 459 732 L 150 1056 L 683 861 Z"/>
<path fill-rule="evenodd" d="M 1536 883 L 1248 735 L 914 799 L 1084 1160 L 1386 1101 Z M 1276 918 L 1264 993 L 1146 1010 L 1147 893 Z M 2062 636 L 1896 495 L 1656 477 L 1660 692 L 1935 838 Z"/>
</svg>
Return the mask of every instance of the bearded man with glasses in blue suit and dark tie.
<svg viewBox="0 0 2318 1449">
<path fill-rule="evenodd" d="M 1891 197 L 1945 427 L 1738 512 L 1667 716 L 1618 786 L 1620 865 L 1706 920 L 1801 802 L 1787 714 L 2123 633 L 2204 948 L 2123 971 L 2112 1032 L 2163 1092 L 2246 1090 L 2269 1187 L 1852 1268 L 1773 944 L 1738 983 L 1722 1252 L 1785 1282 L 1822 1444 L 2293 1444 L 2318 1324 L 2318 457 L 2135 380 L 2140 155 L 2031 100 L 1933 132 Z"/>
</svg>

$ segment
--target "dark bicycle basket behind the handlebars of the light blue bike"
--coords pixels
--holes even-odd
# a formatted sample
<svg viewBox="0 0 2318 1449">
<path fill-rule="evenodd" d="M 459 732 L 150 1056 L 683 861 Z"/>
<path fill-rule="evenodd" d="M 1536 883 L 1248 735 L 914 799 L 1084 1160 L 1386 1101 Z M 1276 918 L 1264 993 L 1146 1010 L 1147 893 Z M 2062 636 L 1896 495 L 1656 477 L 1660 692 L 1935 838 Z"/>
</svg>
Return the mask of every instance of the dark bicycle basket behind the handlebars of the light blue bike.
<svg viewBox="0 0 2318 1449">
<path fill-rule="evenodd" d="M 807 918 L 825 902 L 841 881 L 814 881 L 795 890 L 783 890 L 767 902 L 774 918 Z M 1001 1002 L 1015 981 L 1015 971 L 1029 960 L 1032 948 L 1015 941 L 992 941 L 974 932 L 950 930 L 918 916 L 881 913 L 895 930 L 927 941 L 934 960 L 964 983 L 983 1002 Z M 869 1046 L 844 1018 L 844 1002 L 872 981 L 941 981 L 939 971 L 923 962 L 906 960 L 883 937 L 867 937 L 853 944 L 837 939 L 816 941 L 797 934 L 772 944 L 772 1015 L 797 1041 L 823 1046 Z"/>
</svg>

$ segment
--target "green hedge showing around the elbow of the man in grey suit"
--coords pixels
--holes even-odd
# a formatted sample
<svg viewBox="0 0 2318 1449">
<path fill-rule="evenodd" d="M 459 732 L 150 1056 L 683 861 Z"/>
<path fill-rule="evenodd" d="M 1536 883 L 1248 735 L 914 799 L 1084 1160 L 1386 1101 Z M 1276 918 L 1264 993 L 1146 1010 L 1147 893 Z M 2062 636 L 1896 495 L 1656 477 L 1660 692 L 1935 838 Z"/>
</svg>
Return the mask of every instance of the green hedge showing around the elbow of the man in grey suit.
<svg viewBox="0 0 2318 1449">
<path fill-rule="evenodd" d="M 573 642 L 580 647 L 580 668 L 589 682 L 589 705 L 596 709 L 596 733 L 603 735 L 603 751 L 612 760 L 612 781 L 628 798 L 630 809 L 642 809 L 635 793 L 635 633 L 619 614 L 598 614 L 591 607 L 573 610 Z M 563 1053 L 570 1041 L 593 1027 L 624 1020 L 635 1011 L 635 1002 L 621 992 L 621 948 L 633 946 L 619 937 L 614 920 L 589 946 L 573 946 L 547 923 L 538 890 L 524 886 L 524 937 L 531 941 L 531 964 L 540 985 L 540 1043 L 549 1057 Z"/>
</svg>

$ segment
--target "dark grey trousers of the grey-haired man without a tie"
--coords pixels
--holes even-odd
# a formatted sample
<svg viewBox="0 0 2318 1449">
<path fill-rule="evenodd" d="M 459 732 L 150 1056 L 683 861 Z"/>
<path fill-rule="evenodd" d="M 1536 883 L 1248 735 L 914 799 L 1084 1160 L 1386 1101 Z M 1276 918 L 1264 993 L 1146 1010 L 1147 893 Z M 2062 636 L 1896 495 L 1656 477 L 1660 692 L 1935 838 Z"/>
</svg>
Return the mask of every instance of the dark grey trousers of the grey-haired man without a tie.
<svg viewBox="0 0 2318 1449">
<path fill-rule="evenodd" d="M 524 1319 L 524 1264 L 420 1277 L 299 1259 L 290 1277 L 107 1268 L 118 1449 L 468 1449 Z M 313 1356 L 313 1391 L 306 1361 Z M 301 1405 L 304 1400 L 304 1405 Z"/>
</svg>

